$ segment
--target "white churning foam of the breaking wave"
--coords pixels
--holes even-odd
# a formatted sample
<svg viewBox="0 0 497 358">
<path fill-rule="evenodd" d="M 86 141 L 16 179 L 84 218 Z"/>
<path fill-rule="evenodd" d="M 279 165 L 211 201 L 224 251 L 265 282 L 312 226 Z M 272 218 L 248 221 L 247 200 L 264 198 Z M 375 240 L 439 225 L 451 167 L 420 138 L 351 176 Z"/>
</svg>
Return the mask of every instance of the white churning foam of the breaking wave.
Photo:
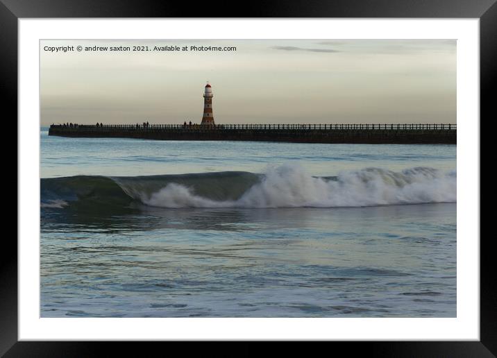
<svg viewBox="0 0 497 358">
<path fill-rule="evenodd" d="M 456 172 L 418 167 L 401 172 L 379 168 L 316 178 L 296 165 L 267 170 L 258 184 L 235 201 L 214 201 L 176 183 L 141 200 L 155 207 L 362 207 L 416 203 L 455 203 Z"/>
</svg>

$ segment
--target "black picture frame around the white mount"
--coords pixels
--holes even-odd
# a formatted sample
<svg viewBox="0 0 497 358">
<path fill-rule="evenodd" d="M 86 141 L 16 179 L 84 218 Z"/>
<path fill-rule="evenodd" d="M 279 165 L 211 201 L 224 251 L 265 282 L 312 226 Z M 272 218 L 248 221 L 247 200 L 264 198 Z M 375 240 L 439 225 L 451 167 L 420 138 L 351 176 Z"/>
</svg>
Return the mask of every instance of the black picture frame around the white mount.
<svg viewBox="0 0 497 358">
<path fill-rule="evenodd" d="M 17 119 L 17 20 L 58 17 L 395 17 L 480 19 L 480 117 L 494 119 L 491 95 L 497 83 L 497 4 L 495 0 L 335 0 L 335 1 L 203 1 L 195 3 L 136 0 L 0 0 L 0 86 L 4 89 L 3 112 Z M 494 89 L 494 91 L 492 91 Z M 7 117 L 4 117 L 7 118 Z M 480 123 L 482 123 L 480 119 Z M 12 128 L 10 135 L 12 136 Z M 17 127 L 15 129 L 16 137 Z M 4 149 L 5 151 L 6 149 Z M 11 151 L 11 149 L 10 149 Z M 16 170 L 17 173 L 17 170 Z M 17 175 L 17 174 L 16 174 Z M 19 190 L 19 187 L 18 187 Z M 140 352 L 118 342 L 26 342 L 17 340 L 17 242 L 4 236 L 0 260 L 0 354 L 5 357 L 99 356 L 103 348 Z M 475 238 L 478 239 L 478 238 Z M 480 341 L 333 342 L 347 354 L 357 352 L 381 357 L 495 357 L 497 355 L 497 295 L 493 237 L 480 241 Z M 160 344 L 160 343 L 155 343 Z M 236 355 L 249 353 L 248 343 Z M 117 352 L 117 351 L 115 351 Z M 207 351 L 208 352 L 208 351 Z M 219 352 L 219 351 L 218 351 Z M 221 351 L 222 352 L 222 351 Z"/>
</svg>

